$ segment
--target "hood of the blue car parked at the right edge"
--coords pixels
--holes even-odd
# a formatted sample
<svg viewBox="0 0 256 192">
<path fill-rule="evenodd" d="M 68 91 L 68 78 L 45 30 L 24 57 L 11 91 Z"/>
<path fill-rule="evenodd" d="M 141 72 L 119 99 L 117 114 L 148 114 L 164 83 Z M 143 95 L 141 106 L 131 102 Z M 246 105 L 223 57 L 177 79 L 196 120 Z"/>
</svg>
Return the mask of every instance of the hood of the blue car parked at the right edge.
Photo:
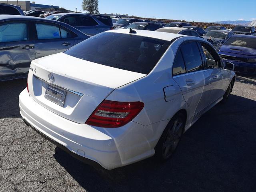
<svg viewBox="0 0 256 192">
<path fill-rule="evenodd" d="M 239 46 L 231 46 L 231 45 L 223 45 L 220 47 L 220 52 L 248 55 L 248 56 L 256 56 L 256 49 L 247 48 L 247 47 L 239 47 Z"/>
</svg>

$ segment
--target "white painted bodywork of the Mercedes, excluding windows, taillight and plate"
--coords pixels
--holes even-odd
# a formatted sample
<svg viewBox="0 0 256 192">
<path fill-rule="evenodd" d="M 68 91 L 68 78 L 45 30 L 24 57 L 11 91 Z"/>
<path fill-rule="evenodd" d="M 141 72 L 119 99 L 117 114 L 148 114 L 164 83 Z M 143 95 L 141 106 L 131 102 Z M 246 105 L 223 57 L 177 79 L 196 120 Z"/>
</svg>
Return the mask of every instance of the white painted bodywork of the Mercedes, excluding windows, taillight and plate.
<svg viewBox="0 0 256 192">
<path fill-rule="evenodd" d="M 128 31 L 108 32 L 125 34 Z M 33 70 L 28 75 L 30 93 L 25 89 L 19 98 L 22 118 L 70 152 L 113 169 L 153 156 L 162 132 L 178 111 L 187 114 L 186 131 L 204 112 L 222 100 L 235 76 L 230 70 L 210 69 L 172 77 L 172 63 L 180 44 L 186 40 L 209 44 L 206 40 L 145 30 L 131 35 L 174 42 L 148 75 L 88 62 L 64 53 L 34 60 Z M 54 75 L 54 82 L 49 82 L 49 73 Z M 217 78 L 213 79 L 213 76 Z M 186 79 L 193 79 L 195 84 L 185 85 Z M 61 107 L 44 98 L 46 84 L 74 93 L 67 92 Z M 140 101 L 144 108 L 132 121 L 119 128 L 85 124 L 104 99 Z"/>
</svg>

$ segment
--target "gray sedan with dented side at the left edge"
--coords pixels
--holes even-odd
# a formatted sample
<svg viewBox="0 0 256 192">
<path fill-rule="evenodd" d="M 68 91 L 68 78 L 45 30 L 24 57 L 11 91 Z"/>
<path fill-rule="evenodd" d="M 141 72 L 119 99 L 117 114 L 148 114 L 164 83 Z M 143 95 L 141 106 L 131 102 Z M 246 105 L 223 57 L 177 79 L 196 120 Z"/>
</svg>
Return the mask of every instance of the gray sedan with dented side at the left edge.
<svg viewBox="0 0 256 192">
<path fill-rule="evenodd" d="M 0 81 L 26 78 L 32 60 L 62 52 L 87 38 L 62 22 L 0 15 Z"/>
</svg>

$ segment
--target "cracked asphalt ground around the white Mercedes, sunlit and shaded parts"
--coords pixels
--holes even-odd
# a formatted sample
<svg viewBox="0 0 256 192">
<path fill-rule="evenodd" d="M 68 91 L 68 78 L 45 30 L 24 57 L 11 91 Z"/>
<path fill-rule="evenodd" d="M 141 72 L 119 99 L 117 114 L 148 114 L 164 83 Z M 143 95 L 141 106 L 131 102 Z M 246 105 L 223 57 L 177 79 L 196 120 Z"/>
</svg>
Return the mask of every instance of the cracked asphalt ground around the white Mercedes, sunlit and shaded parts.
<svg viewBox="0 0 256 192">
<path fill-rule="evenodd" d="M 26 80 L 0 82 L 0 192 L 252 192 L 256 188 L 256 80 L 238 77 L 228 102 L 204 114 L 172 158 L 96 169 L 26 126 L 18 96 Z"/>
</svg>

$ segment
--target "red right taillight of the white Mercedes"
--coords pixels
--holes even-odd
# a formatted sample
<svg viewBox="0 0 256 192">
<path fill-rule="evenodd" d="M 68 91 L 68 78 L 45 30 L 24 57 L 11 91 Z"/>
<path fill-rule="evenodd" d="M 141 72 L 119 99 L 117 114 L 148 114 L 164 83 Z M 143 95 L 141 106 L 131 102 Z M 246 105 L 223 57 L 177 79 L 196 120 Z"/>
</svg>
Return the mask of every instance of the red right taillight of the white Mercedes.
<svg viewBox="0 0 256 192">
<path fill-rule="evenodd" d="M 104 100 L 85 122 L 88 125 L 117 128 L 130 122 L 144 107 L 142 102 Z"/>
</svg>

